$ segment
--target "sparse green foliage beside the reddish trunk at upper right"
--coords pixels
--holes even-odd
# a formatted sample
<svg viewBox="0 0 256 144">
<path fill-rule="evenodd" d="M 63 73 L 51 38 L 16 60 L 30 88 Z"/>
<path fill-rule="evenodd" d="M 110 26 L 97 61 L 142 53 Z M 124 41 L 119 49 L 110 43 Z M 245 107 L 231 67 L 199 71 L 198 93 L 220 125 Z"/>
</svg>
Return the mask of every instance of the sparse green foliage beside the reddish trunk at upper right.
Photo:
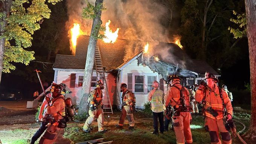
<svg viewBox="0 0 256 144">
<path fill-rule="evenodd" d="M 247 34 L 246 32 L 246 14 L 238 14 L 235 11 L 233 11 L 233 14 L 236 15 L 237 19 L 234 18 L 230 18 L 230 21 L 232 21 L 235 24 L 239 24 L 239 27 L 242 28 L 242 30 L 240 29 L 235 29 L 232 27 L 229 27 L 228 30 L 230 30 L 230 33 L 233 33 L 234 38 L 242 38 L 243 36 L 245 36 Z"/>
</svg>

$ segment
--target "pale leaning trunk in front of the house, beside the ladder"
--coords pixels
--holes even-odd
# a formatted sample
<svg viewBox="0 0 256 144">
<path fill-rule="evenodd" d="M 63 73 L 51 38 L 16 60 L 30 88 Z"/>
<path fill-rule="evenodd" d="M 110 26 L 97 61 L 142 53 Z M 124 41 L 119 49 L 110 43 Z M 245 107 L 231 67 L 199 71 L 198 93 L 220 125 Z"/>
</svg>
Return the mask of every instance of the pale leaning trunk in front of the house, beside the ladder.
<svg viewBox="0 0 256 144">
<path fill-rule="evenodd" d="M 95 55 L 95 47 L 97 44 L 97 38 L 94 38 L 93 33 L 99 33 L 99 29 L 96 30 L 95 27 L 97 25 L 101 25 L 101 10 L 103 6 L 103 0 L 96 0 L 95 7 L 99 8 L 96 12 L 96 18 L 93 19 L 93 25 L 91 27 L 91 35 L 88 44 L 87 56 L 86 56 L 86 64 L 84 69 L 84 79 L 83 79 L 83 86 L 82 86 L 82 97 L 79 103 L 79 111 L 78 115 L 84 115 L 85 113 L 88 114 L 88 106 L 87 106 L 87 99 L 88 95 L 90 94 L 91 89 L 91 76 L 93 74 L 93 64 L 94 64 L 94 55 Z"/>
</svg>

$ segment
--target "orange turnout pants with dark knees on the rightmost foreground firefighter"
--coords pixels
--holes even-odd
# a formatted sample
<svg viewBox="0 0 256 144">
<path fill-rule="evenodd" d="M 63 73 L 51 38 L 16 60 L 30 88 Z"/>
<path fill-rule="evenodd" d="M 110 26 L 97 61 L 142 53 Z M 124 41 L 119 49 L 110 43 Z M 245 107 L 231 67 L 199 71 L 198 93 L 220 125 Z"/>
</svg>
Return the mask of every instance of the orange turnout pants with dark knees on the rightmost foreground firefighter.
<svg viewBox="0 0 256 144">
<path fill-rule="evenodd" d="M 224 121 L 212 119 L 206 117 L 208 127 L 209 127 L 209 134 L 211 138 L 211 144 L 232 144 L 231 136 L 229 131 L 226 130 Z M 221 133 L 221 139 L 219 138 L 219 132 Z"/>
</svg>

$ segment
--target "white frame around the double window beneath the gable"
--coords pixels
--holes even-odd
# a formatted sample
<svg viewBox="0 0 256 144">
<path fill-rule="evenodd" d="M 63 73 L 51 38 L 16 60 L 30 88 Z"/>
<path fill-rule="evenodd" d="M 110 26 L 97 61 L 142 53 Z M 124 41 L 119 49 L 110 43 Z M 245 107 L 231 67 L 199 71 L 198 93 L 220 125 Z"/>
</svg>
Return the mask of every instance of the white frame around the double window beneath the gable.
<svg viewBox="0 0 256 144">
<path fill-rule="evenodd" d="M 159 74 L 158 73 L 133 73 L 133 92 L 136 94 L 148 94 L 148 76 L 155 76 L 156 80 L 159 82 Z M 143 83 L 143 92 L 135 92 L 135 76 L 144 76 Z"/>
</svg>

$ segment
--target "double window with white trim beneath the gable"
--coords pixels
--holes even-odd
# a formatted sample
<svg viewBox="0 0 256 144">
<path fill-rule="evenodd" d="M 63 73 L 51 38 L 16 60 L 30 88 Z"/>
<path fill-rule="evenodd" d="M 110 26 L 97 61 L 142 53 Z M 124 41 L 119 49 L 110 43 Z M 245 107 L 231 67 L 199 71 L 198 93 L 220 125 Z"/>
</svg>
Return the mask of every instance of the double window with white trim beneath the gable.
<svg viewBox="0 0 256 144">
<path fill-rule="evenodd" d="M 148 93 L 152 90 L 152 82 L 158 80 L 158 74 L 133 73 L 132 76 L 133 92 L 137 93 Z"/>
</svg>

